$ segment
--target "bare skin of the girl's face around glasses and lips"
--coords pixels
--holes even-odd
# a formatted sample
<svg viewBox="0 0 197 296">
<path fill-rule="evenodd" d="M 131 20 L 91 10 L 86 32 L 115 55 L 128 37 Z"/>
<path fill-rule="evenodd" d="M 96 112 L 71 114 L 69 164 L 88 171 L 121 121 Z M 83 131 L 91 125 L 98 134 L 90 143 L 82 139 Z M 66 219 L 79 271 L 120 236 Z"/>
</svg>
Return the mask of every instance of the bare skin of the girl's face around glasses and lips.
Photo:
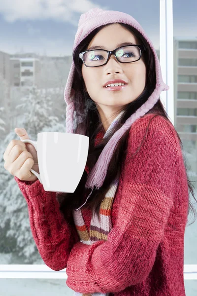
<svg viewBox="0 0 197 296">
<path fill-rule="evenodd" d="M 110 24 L 101 29 L 91 40 L 87 50 L 92 46 L 114 50 L 123 42 L 138 44 L 134 35 L 120 24 Z M 143 53 L 142 53 L 143 55 Z M 142 60 L 133 63 L 120 63 L 114 55 L 106 65 L 90 68 L 82 65 L 82 75 L 86 90 L 96 103 L 105 131 L 124 105 L 134 101 L 144 90 L 146 67 Z M 122 79 L 127 85 L 118 91 L 107 90 L 103 85 L 112 79 Z"/>
</svg>

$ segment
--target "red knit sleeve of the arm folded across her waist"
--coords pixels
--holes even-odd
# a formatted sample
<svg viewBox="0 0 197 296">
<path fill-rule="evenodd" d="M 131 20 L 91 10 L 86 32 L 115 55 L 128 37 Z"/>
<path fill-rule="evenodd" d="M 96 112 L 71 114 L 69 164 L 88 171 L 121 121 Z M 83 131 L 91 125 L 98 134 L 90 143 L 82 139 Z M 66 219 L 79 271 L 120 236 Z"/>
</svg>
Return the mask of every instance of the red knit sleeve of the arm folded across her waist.
<svg viewBox="0 0 197 296">
<path fill-rule="evenodd" d="M 80 293 L 117 293 L 150 273 L 173 205 L 178 149 L 163 119 L 129 134 L 117 220 L 107 236 L 92 245 L 77 242 L 67 260 L 66 285 Z M 139 141 L 140 140 L 140 141 Z"/>
</svg>

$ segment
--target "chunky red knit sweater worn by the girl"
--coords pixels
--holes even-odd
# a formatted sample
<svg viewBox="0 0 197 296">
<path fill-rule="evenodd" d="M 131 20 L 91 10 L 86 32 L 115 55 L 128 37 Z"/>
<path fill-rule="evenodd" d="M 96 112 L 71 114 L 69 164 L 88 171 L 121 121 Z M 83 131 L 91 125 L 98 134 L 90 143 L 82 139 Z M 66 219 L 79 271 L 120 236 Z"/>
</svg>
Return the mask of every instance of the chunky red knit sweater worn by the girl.
<svg viewBox="0 0 197 296">
<path fill-rule="evenodd" d="M 27 201 L 41 258 L 53 270 L 66 268 L 66 285 L 76 292 L 185 296 L 187 175 L 173 125 L 161 115 L 153 116 L 146 114 L 131 126 L 107 241 L 83 244 L 73 218 L 60 212 L 56 192 L 45 191 L 39 180 L 14 177 Z M 99 133 L 98 140 L 102 136 Z M 88 167 L 85 170 L 88 174 Z M 89 230 L 92 213 L 81 210 Z"/>
</svg>

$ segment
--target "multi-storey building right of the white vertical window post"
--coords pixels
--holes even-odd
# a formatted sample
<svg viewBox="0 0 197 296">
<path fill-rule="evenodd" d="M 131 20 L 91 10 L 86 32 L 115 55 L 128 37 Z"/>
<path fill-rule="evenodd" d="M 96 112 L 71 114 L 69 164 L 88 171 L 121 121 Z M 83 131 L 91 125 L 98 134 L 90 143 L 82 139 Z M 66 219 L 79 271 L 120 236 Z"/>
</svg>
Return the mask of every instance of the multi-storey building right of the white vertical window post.
<svg viewBox="0 0 197 296">
<path fill-rule="evenodd" d="M 197 37 L 174 37 L 174 104 L 176 130 L 197 172 Z"/>
</svg>

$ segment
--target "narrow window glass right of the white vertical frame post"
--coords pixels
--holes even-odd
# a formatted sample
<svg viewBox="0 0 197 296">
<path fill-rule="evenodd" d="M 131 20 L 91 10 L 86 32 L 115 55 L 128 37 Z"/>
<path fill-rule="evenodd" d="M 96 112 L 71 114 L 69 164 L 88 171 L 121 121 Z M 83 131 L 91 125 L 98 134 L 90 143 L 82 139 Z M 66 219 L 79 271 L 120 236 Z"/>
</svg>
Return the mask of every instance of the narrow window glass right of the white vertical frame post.
<svg viewBox="0 0 197 296">
<path fill-rule="evenodd" d="M 197 199 L 197 40 L 195 34 L 190 34 L 190 31 L 194 32 L 196 21 L 195 17 L 193 20 L 191 18 L 191 15 L 195 15 L 194 5 L 190 5 L 190 11 L 184 11 L 184 19 L 181 16 L 183 9 L 180 1 L 173 1 L 174 127 L 183 144 L 188 179 L 194 186 Z M 192 84 L 188 85 L 189 83 Z M 197 203 L 191 193 L 190 201 L 197 211 Z M 188 220 L 189 223 L 195 220 L 192 211 Z M 197 264 L 195 246 L 197 220 L 185 229 L 184 264 Z M 197 295 L 197 281 L 185 281 L 185 290 L 188 296 Z"/>
</svg>

